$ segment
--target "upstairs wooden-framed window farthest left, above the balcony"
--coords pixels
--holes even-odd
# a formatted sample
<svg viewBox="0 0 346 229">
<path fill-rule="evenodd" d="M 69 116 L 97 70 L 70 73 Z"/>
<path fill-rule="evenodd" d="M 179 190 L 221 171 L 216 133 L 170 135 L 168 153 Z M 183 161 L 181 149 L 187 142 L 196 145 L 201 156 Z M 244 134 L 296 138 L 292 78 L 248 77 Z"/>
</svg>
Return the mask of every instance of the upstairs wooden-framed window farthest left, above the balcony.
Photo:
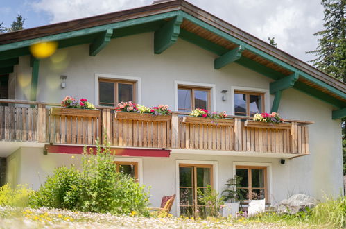
<svg viewBox="0 0 346 229">
<path fill-rule="evenodd" d="M 135 102 L 135 82 L 125 80 L 98 80 L 99 105 L 116 106 L 120 102 Z"/>
</svg>

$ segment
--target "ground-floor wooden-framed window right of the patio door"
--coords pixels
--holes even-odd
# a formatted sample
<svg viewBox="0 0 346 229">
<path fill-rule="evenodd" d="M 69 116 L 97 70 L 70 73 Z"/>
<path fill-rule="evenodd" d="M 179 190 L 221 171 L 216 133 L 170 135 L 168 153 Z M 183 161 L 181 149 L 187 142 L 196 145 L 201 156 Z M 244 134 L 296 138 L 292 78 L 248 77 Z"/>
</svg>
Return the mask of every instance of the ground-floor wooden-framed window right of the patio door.
<svg viewBox="0 0 346 229">
<path fill-rule="evenodd" d="M 236 176 L 243 178 L 241 187 L 244 200 L 267 198 L 267 167 L 236 166 Z"/>
</svg>

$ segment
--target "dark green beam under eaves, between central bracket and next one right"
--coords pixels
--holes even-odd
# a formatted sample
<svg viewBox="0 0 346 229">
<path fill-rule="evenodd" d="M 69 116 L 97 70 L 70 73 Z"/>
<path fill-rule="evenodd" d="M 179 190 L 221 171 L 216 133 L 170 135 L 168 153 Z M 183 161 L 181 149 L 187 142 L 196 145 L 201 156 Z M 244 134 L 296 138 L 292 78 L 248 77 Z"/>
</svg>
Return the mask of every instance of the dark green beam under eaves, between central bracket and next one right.
<svg viewBox="0 0 346 229">
<path fill-rule="evenodd" d="M 215 53 L 218 56 L 222 56 L 223 54 L 227 53 L 227 51 L 230 51 L 223 46 L 210 42 L 209 40 L 206 40 L 194 33 L 190 33 L 182 28 L 180 28 L 179 38 L 195 44 L 202 49 L 210 51 L 211 53 Z"/>
</svg>

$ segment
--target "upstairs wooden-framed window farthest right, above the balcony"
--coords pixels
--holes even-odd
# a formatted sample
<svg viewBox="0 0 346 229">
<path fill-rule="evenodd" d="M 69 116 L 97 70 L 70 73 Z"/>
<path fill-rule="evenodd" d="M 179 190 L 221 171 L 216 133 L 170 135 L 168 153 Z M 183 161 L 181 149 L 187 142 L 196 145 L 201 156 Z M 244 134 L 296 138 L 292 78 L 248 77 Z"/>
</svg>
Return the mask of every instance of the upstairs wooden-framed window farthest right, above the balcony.
<svg viewBox="0 0 346 229">
<path fill-rule="evenodd" d="M 264 94 L 257 92 L 234 92 L 234 114 L 254 116 L 264 110 Z"/>
</svg>

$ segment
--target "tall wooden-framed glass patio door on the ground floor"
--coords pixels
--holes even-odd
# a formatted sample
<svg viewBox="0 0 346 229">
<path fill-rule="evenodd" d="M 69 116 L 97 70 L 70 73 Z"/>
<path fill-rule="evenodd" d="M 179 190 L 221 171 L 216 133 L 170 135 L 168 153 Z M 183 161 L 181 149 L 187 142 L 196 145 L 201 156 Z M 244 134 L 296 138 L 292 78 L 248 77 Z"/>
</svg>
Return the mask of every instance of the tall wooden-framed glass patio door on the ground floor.
<svg viewBox="0 0 346 229">
<path fill-rule="evenodd" d="M 180 215 L 205 217 L 205 206 L 198 196 L 208 185 L 212 186 L 212 169 L 211 164 L 179 164 Z"/>
</svg>

